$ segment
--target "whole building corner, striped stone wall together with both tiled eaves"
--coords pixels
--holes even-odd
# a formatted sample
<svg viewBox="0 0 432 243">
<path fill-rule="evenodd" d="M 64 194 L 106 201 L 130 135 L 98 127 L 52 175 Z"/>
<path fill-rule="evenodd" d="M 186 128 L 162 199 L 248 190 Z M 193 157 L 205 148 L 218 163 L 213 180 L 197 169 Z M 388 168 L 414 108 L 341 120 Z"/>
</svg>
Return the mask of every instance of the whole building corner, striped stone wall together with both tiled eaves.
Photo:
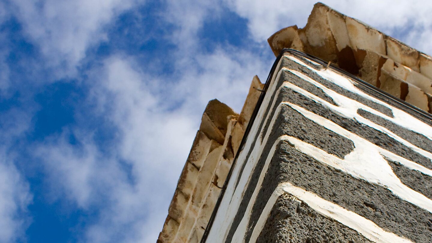
<svg viewBox="0 0 432 243">
<path fill-rule="evenodd" d="M 158 242 L 200 242 L 224 189 L 207 242 L 432 242 L 432 120 L 403 102 L 432 111 L 432 58 L 322 3 L 268 41 L 370 85 L 285 54 L 264 92 L 254 77 L 240 115 L 210 101 Z"/>
</svg>

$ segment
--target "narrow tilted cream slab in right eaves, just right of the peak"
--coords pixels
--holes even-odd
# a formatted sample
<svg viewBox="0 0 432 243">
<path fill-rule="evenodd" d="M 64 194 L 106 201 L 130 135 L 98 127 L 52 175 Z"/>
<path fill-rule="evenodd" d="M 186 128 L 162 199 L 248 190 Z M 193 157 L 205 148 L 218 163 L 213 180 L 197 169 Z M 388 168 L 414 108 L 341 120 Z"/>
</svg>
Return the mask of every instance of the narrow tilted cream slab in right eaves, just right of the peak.
<svg viewBox="0 0 432 243">
<path fill-rule="evenodd" d="M 348 29 L 346 29 L 344 16 L 335 11 L 328 11 L 327 19 L 330 30 L 336 41 L 337 50 L 340 51 L 347 46 L 351 47 L 351 41 L 349 40 Z"/>
</svg>

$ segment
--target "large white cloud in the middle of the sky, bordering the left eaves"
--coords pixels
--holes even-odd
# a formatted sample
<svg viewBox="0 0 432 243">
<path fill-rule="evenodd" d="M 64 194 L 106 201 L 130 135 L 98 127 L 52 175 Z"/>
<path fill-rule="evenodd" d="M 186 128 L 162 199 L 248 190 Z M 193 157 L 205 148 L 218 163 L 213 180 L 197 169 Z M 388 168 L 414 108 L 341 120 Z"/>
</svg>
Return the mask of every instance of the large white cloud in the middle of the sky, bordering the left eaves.
<svg viewBox="0 0 432 243">
<path fill-rule="evenodd" d="M 216 97 L 239 111 L 253 74 L 263 69 L 248 52 L 238 56 L 218 49 L 195 58 L 197 66 L 181 67 L 178 61 L 175 83 L 147 75 L 133 58 L 106 59 L 89 74 L 88 101 L 97 102 L 94 112 L 116 128 L 112 154 L 102 154 L 91 132 L 79 128 L 73 133 L 82 146 L 69 144 L 65 133 L 38 148 L 57 199 L 83 209 L 102 208 L 98 221 L 86 229 L 86 241 L 154 241 L 206 103 Z M 122 163 L 130 166 L 132 182 Z"/>
</svg>

